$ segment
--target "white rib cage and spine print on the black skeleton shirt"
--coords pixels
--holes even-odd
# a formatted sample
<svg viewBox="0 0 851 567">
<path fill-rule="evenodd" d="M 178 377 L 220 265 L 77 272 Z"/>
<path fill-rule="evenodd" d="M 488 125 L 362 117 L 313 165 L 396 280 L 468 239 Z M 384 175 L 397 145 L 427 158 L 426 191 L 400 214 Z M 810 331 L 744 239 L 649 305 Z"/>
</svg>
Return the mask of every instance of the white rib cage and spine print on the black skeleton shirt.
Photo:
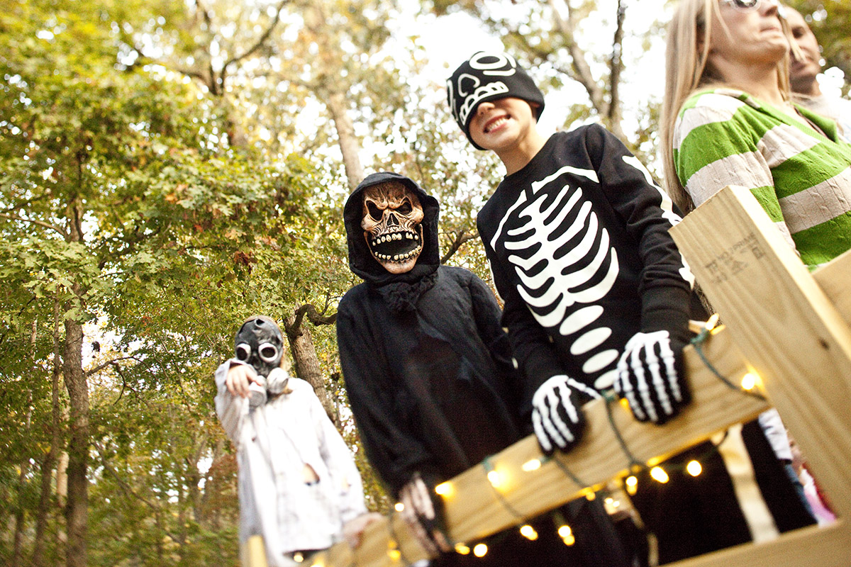
<svg viewBox="0 0 851 567">
<path fill-rule="evenodd" d="M 597 303 L 611 291 L 619 274 L 618 254 L 608 230 L 592 210 L 580 186 L 571 186 L 565 173 L 597 183 L 590 169 L 565 166 L 531 184 L 531 196 L 521 191 L 490 241 L 500 241 L 520 283 L 517 292 L 541 326 L 557 328 L 570 338 L 570 354 L 583 360 L 587 374 L 603 371 L 595 388 L 614 381 L 618 350 L 606 348 L 612 329 L 599 324 L 604 308 Z M 569 178 L 568 178 L 569 179 Z M 514 228 L 505 221 L 514 218 Z M 575 304 L 580 304 L 578 309 Z M 568 310 L 571 311 L 570 315 Z M 597 326 L 595 326 L 597 323 Z M 604 371 L 608 368 L 608 371 Z"/>
</svg>

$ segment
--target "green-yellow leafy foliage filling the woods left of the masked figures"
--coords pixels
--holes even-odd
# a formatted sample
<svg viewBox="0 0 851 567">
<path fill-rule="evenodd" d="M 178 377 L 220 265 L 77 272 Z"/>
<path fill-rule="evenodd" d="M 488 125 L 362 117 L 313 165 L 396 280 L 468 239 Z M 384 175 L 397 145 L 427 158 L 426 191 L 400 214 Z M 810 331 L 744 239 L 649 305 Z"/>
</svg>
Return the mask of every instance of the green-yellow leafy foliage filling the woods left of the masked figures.
<svg viewBox="0 0 851 567">
<path fill-rule="evenodd" d="M 0 402 L 4 431 L 18 432 L 0 446 L 0 512 L 17 526 L 0 553 L 12 563 L 31 550 L 51 445 L 54 306 L 66 328 L 93 333 L 76 347 L 92 357 L 91 405 L 77 408 L 89 420 L 90 560 L 210 564 L 237 549 L 212 369 L 236 321 L 281 317 L 349 277 L 323 261 L 340 258 L 340 239 L 325 237 L 336 217 L 308 162 L 230 150 L 203 92 L 156 65 L 121 64 L 123 26 L 109 15 L 135 8 L 144 18 L 131 4 L 14 3 L 0 27 L 0 349 L 17 361 L 0 369 Z M 73 354 L 61 330 L 60 350 Z M 111 337 L 109 348 L 93 337 Z M 204 481 L 231 495 L 213 508 L 198 496 L 202 457 L 212 459 Z M 20 535 L 25 549 L 12 550 Z M 47 546 L 59 562 L 62 546 Z"/>
</svg>

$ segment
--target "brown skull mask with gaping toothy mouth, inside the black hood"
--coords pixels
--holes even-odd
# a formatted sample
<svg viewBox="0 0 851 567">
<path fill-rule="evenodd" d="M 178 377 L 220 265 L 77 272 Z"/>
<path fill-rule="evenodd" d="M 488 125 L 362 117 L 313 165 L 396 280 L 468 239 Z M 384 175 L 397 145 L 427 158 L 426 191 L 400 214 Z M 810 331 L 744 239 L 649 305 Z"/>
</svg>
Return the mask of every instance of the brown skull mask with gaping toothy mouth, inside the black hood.
<svg viewBox="0 0 851 567">
<path fill-rule="evenodd" d="M 389 181 L 363 190 L 363 236 L 369 252 L 391 274 L 414 268 L 423 250 L 423 207 L 403 184 Z"/>
</svg>

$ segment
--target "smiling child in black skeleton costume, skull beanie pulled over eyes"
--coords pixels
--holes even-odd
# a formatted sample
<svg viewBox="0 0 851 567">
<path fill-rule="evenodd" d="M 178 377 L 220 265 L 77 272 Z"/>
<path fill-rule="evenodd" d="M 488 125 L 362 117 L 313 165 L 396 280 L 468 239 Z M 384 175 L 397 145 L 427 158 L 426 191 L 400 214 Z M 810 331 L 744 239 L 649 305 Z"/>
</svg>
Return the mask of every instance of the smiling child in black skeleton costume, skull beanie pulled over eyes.
<svg viewBox="0 0 851 567">
<path fill-rule="evenodd" d="M 541 136 L 543 95 L 511 55 L 474 54 L 449 78 L 448 103 L 471 144 L 506 168 L 477 225 L 541 448 L 573 448 L 581 405 L 609 388 L 640 421 L 675 417 L 690 401 L 683 348 L 697 303 L 668 235 L 681 219 L 671 199 L 597 124 Z M 644 476 L 633 498 L 661 563 L 750 540 L 709 442 L 668 464 L 682 470 L 698 456 L 700 485 Z M 770 450 L 765 458 L 774 459 Z"/>
</svg>

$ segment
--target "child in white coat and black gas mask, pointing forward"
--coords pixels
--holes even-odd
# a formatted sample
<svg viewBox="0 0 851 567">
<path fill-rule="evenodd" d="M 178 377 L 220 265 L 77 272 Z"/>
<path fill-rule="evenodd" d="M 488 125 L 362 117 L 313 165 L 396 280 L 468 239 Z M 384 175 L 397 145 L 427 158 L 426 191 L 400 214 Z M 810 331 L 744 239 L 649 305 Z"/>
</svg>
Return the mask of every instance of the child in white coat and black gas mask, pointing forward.
<svg viewBox="0 0 851 567">
<path fill-rule="evenodd" d="M 375 519 L 364 514 L 360 474 L 311 385 L 280 367 L 281 330 L 251 317 L 235 343 L 235 358 L 215 371 L 215 406 L 237 448 L 240 542 L 263 536 L 270 567 L 291 567 L 295 553 L 344 532 L 356 544 Z"/>
</svg>

